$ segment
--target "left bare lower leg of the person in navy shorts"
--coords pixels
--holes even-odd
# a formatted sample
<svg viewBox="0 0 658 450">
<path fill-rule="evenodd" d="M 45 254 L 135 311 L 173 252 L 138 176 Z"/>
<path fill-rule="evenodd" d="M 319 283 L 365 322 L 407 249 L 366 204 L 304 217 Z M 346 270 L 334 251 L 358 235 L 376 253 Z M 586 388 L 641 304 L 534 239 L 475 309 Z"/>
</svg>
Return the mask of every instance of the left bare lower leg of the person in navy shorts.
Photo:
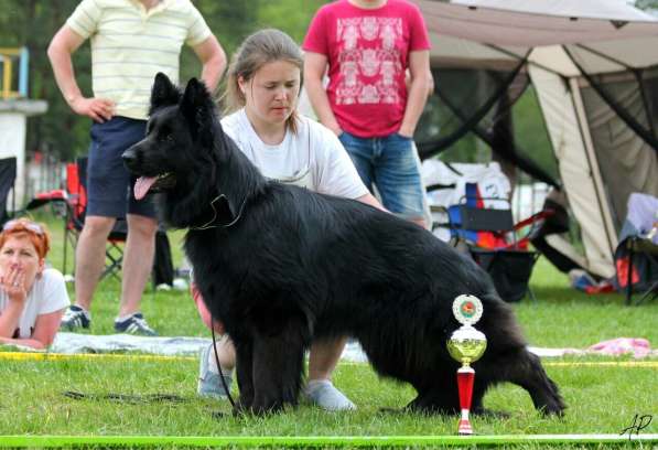
<svg viewBox="0 0 658 450">
<path fill-rule="evenodd" d="M 107 236 L 114 217 L 87 216 L 75 249 L 75 304 L 89 310 L 94 291 L 105 267 Z"/>
</svg>

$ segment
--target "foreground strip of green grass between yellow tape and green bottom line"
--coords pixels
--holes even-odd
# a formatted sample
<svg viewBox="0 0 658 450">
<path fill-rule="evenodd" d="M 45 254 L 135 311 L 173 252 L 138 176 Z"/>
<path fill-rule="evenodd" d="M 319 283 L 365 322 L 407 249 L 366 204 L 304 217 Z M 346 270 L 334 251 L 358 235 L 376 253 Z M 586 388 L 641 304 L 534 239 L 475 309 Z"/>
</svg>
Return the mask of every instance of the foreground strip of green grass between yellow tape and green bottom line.
<svg viewBox="0 0 658 450">
<path fill-rule="evenodd" d="M 302 405 L 266 418 L 236 418 L 227 403 L 195 397 L 195 361 L 2 362 L 0 435 L 151 436 L 451 436 L 456 418 L 380 413 L 413 398 L 408 386 L 379 379 L 365 364 L 341 364 L 336 383 L 352 397 L 356 413 L 328 414 Z M 475 418 L 479 435 L 618 433 L 635 414 L 656 414 L 655 368 L 547 367 L 561 386 L 569 410 L 544 418 L 520 388 L 493 389 L 486 405 L 510 413 L 508 419 Z M 175 394 L 183 401 L 116 403 L 74 400 L 64 390 L 85 394 Z M 225 416 L 216 418 L 213 413 Z M 650 426 L 644 432 L 656 432 Z"/>
</svg>

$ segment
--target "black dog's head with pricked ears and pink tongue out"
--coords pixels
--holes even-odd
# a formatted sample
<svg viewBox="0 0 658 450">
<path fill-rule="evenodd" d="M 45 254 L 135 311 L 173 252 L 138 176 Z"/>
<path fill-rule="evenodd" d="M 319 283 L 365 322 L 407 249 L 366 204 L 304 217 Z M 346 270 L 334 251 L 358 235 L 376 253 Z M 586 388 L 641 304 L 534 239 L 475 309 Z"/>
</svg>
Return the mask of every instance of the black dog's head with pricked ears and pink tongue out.
<svg viewBox="0 0 658 450">
<path fill-rule="evenodd" d="M 166 75 L 155 75 L 147 136 L 122 154 L 128 170 L 139 176 L 134 197 L 191 189 L 195 174 L 213 165 L 215 122 L 215 106 L 202 82 L 192 78 L 181 93 Z"/>
</svg>

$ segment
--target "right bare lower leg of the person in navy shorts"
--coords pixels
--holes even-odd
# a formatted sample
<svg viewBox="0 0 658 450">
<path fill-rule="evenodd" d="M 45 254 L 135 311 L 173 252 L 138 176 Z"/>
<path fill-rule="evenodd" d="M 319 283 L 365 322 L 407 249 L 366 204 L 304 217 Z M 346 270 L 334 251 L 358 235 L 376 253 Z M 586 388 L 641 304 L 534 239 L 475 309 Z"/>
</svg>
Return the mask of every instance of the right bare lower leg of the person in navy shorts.
<svg viewBox="0 0 658 450">
<path fill-rule="evenodd" d="M 139 311 L 144 287 L 153 267 L 155 253 L 154 218 L 128 214 L 128 239 L 123 250 L 121 306 L 119 317 Z"/>
</svg>

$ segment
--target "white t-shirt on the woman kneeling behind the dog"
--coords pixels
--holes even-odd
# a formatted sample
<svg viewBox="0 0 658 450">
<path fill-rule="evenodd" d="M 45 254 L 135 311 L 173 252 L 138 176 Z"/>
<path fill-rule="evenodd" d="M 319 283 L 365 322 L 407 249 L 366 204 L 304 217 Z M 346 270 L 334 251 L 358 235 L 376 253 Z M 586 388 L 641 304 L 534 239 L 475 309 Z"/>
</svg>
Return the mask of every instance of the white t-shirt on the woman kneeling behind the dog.
<svg viewBox="0 0 658 450">
<path fill-rule="evenodd" d="M 309 189 L 322 194 L 358 199 L 368 193 L 338 138 L 323 125 L 301 116 L 296 133 L 289 129 L 278 146 L 265 143 L 254 130 L 245 108 L 222 119 L 224 131 L 260 172 L 274 180 L 303 175 Z"/>
</svg>

